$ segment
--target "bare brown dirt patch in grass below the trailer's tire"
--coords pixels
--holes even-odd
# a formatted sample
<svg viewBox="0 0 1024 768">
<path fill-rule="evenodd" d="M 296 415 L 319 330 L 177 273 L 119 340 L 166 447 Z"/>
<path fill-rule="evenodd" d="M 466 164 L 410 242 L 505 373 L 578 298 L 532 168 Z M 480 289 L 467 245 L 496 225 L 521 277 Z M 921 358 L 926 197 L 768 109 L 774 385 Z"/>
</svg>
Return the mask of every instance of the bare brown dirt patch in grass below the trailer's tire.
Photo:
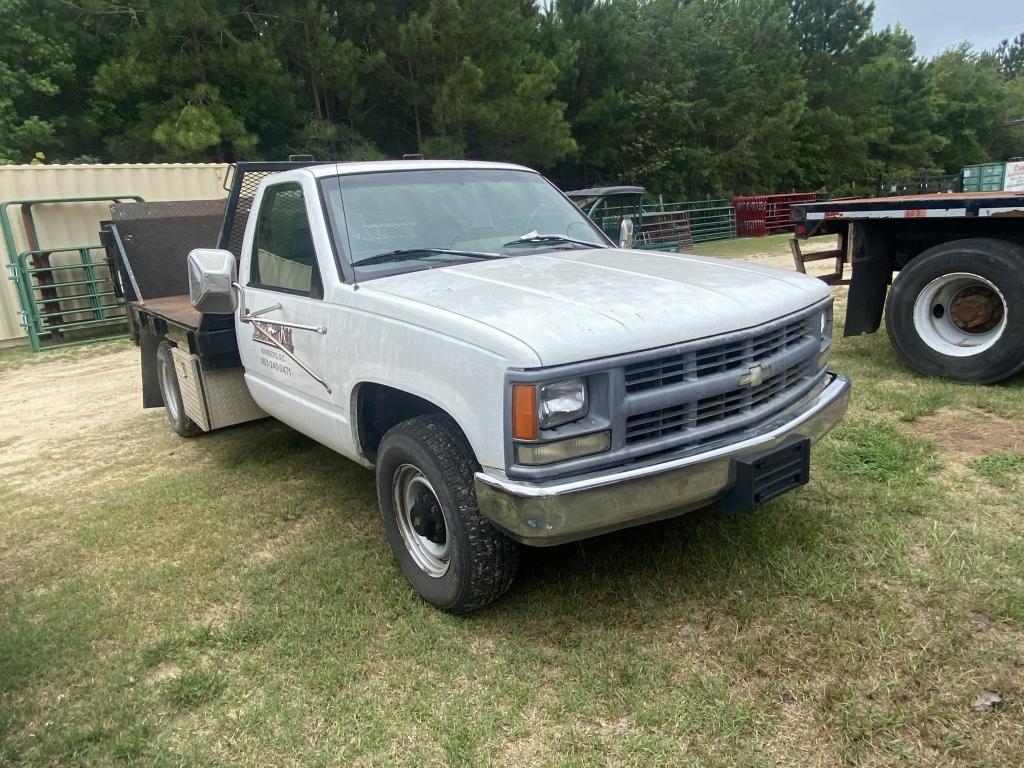
<svg viewBox="0 0 1024 768">
<path fill-rule="evenodd" d="M 942 409 L 904 429 L 931 440 L 942 458 L 956 464 L 989 454 L 1024 451 L 1024 424 L 984 411 Z"/>
</svg>

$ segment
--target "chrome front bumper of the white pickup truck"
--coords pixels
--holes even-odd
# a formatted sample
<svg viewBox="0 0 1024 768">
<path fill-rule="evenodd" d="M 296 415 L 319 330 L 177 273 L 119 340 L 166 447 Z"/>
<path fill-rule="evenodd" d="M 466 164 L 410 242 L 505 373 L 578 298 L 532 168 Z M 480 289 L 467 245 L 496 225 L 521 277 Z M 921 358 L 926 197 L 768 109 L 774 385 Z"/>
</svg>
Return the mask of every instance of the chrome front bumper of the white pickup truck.
<svg viewBox="0 0 1024 768">
<path fill-rule="evenodd" d="M 535 547 L 563 544 L 673 517 L 721 499 L 733 459 L 788 437 L 812 442 L 835 427 L 850 402 L 850 382 L 828 374 L 824 389 L 778 414 L 746 439 L 657 464 L 532 483 L 476 473 L 480 512 L 511 538 Z"/>
</svg>

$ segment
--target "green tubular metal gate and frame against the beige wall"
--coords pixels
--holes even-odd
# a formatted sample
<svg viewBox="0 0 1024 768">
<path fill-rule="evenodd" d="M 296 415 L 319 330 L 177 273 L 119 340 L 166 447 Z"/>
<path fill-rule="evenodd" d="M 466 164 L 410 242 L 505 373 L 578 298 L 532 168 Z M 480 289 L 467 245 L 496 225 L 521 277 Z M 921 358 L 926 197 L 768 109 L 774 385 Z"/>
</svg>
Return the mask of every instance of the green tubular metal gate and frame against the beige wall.
<svg viewBox="0 0 1024 768">
<path fill-rule="evenodd" d="M 135 195 L 120 195 L 13 200 L 0 204 L 7 272 L 17 289 L 22 307 L 18 316 L 33 351 L 120 336 L 126 323 L 103 247 L 86 244 L 40 248 L 33 206 L 129 200 L 142 202 Z M 16 252 L 8 214 L 12 206 L 22 209 L 31 250 Z"/>
</svg>

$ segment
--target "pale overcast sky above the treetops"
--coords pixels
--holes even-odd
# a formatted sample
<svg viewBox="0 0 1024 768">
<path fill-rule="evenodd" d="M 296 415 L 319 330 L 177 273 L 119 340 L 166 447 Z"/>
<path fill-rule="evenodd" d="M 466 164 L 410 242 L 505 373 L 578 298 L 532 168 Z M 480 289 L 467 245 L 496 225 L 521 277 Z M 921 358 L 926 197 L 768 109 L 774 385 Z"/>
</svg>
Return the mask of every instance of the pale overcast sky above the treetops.
<svg viewBox="0 0 1024 768">
<path fill-rule="evenodd" d="M 900 23 L 930 58 L 965 40 L 979 50 L 1024 32 L 1024 0 L 874 0 L 874 27 Z"/>
</svg>

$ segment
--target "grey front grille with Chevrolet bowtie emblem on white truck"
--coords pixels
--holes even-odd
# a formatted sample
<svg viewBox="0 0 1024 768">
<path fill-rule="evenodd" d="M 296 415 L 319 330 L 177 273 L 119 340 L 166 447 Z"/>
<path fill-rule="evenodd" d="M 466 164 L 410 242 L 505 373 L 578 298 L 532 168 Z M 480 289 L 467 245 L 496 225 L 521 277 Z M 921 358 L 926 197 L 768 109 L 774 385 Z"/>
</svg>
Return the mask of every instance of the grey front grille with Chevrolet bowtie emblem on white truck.
<svg viewBox="0 0 1024 768">
<path fill-rule="evenodd" d="M 817 368 L 820 311 L 628 364 L 625 447 L 699 445 L 754 427 L 795 402 L 824 375 Z M 741 381 L 752 374 L 753 381 Z"/>
</svg>

